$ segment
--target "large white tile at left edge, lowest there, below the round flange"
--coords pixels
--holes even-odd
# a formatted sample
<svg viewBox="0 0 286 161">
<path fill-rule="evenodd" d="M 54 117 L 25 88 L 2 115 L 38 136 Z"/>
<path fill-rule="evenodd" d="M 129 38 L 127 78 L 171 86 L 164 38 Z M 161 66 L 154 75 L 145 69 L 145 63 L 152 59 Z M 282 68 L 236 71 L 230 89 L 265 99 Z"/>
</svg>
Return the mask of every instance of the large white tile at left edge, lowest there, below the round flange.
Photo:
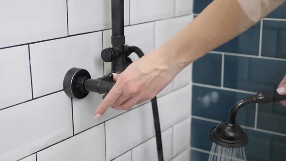
<svg viewBox="0 0 286 161">
<path fill-rule="evenodd" d="M 58 92 L 0 111 L 0 161 L 16 161 L 73 135 L 71 99 Z"/>
</svg>

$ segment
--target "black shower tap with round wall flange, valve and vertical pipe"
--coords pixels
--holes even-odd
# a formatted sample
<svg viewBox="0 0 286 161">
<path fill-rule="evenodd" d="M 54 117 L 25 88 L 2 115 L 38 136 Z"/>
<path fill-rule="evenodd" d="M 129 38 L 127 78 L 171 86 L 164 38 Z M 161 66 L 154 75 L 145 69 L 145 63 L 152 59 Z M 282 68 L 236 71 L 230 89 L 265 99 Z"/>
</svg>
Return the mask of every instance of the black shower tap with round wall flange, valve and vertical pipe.
<svg viewBox="0 0 286 161">
<path fill-rule="evenodd" d="M 64 77 L 63 86 L 67 96 L 82 99 L 89 92 L 107 94 L 115 84 L 111 73 L 121 73 L 132 63 L 128 56 L 132 52 L 138 52 L 140 48 L 125 45 L 124 0 L 111 0 L 111 31 L 112 47 L 101 51 L 101 59 L 111 62 L 111 72 L 104 77 L 91 79 L 87 70 L 71 68 Z"/>
</svg>

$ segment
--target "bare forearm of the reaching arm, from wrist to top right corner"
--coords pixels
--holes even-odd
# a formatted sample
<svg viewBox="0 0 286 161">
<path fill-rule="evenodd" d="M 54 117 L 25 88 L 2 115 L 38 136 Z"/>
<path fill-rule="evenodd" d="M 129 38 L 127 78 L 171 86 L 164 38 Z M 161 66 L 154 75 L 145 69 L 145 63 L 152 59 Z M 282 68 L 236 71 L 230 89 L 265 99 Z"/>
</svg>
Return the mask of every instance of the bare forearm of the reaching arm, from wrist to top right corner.
<svg viewBox="0 0 286 161">
<path fill-rule="evenodd" d="M 214 0 L 158 50 L 178 71 L 244 32 L 285 0 Z M 267 2 L 267 3 L 266 3 Z"/>
</svg>

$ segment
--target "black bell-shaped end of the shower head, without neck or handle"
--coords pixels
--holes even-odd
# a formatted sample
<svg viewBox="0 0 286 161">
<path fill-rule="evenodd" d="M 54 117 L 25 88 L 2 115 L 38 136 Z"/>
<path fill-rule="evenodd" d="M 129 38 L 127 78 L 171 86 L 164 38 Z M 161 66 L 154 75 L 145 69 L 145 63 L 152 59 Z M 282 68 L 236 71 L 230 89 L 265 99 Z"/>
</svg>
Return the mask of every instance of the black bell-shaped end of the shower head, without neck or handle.
<svg viewBox="0 0 286 161">
<path fill-rule="evenodd" d="M 221 122 L 209 130 L 209 138 L 217 145 L 228 148 L 239 148 L 248 143 L 248 136 L 236 123 Z"/>
</svg>

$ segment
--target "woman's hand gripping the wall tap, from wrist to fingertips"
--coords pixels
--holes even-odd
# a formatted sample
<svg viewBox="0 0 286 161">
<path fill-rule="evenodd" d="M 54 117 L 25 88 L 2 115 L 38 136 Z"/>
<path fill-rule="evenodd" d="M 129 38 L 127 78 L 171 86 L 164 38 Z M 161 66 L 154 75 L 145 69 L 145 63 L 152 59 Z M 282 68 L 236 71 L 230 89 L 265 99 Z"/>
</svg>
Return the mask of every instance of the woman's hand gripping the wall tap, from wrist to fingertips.
<svg viewBox="0 0 286 161">
<path fill-rule="evenodd" d="M 129 110 L 134 105 L 154 98 L 179 73 L 175 61 L 164 57 L 160 49 L 153 50 L 138 61 L 130 64 L 121 74 L 114 75 L 115 85 L 95 111 L 98 119 L 112 107 Z"/>
</svg>

